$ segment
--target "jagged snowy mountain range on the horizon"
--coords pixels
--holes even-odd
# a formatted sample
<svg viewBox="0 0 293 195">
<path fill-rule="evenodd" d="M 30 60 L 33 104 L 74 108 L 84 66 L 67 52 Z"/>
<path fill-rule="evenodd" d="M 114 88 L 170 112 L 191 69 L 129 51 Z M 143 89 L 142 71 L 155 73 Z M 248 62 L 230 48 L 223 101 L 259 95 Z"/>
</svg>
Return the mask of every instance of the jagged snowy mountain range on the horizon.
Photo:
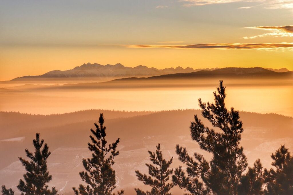
<svg viewBox="0 0 293 195">
<path fill-rule="evenodd" d="M 101 65 L 98 63 L 87 63 L 81 66 L 76 66 L 70 70 L 52 70 L 43 75 L 38 76 L 23 76 L 17 77 L 13 80 L 24 80 L 24 79 L 38 79 L 38 78 L 84 78 L 84 77 L 152 77 L 159 75 L 168 75 L 176 73 L 192 73 L 201 70 L 210 71 L 217 70 L 218 68 L 199 68 L 193 69 L 190 67 L 182 68 L 178 66 L 177 68 L 148 68 L 147 66 L 138 65 L 136 67 L 127 67 L 120 63 L 115 65 Z M 268 69 L 274 72 L 287 72 L 286 68 L 281 69 Z"/>
</svg>

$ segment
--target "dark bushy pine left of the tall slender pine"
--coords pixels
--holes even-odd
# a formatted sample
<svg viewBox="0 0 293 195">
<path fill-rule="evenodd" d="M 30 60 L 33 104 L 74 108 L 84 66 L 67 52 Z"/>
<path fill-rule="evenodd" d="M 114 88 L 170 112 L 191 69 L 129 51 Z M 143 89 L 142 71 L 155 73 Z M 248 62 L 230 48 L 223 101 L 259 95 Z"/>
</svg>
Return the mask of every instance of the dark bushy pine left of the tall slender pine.
<svg viewBox="0 0 293 195">
<path fill-rule="evenodd" d="M 44 140 L 40 140 L 40 134 L 37 133 L 36 139 L 33 139 L 35 152 L 31 153 L 28 149 L 25 149 L 26 156 L 30 158 L 30 161 L 18 157 L 27 171 L 23 175 L 24 181 L 19 180 L 17 185 L 22 195 L 57 195 L 58 191 L 55 187 L 50 190 L 47 186 L 47 183 L 52 180 L 52 175 L 49 175 L 47 170 L 47 158 L 51 152 L 46 143 L 42 148 L 43 144 Z"/>
</svg>

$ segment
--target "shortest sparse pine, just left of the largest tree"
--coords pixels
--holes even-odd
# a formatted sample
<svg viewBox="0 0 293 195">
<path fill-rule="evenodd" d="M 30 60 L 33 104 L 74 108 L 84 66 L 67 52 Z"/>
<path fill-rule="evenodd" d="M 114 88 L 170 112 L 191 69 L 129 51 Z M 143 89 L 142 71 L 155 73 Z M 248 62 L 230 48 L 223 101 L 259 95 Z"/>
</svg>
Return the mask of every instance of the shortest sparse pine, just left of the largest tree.
<svg viewBox="0 0 293 195">
<path fill-rule="evenodd" d="M 152 189 L 147 192 L 144 192 L 141 189 L 135 189 L 137 195 L 171 195 L 169 191 L 174 184 L 167 182 L 169 176 L 173 172 L 173 169 L 169 169 L 173 157 L 169 161 L 166 161 L 166 159 L 163 158 L 160 144 L 158 144 L 156 148 L 156 153 L 148 151 L 150 160 L 156 165 L 146 164 L 149 168 L 150 176 L 147 176 L 146 174 L 143 175 L 138 170 L 135 171 L 138 180 L 142 181 L 145 185 L 151 186 Z M 154 179 L 152 177 L 154 177 Z"/>
</svg>

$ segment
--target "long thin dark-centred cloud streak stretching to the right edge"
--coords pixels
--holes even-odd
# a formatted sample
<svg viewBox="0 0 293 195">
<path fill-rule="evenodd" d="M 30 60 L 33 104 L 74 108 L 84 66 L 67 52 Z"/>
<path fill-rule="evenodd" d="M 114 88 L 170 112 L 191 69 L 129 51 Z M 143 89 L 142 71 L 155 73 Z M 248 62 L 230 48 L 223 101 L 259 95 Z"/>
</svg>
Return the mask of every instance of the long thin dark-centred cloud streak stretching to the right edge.
<svg viewBox="0 0 293 195">
<path fill-rule="evenodd" d="M 293 43 L 217 43 L 194 45 L 127 45 L 130 48 L 177 48 L 177 49 L 293 49 Z"/>
</svg>

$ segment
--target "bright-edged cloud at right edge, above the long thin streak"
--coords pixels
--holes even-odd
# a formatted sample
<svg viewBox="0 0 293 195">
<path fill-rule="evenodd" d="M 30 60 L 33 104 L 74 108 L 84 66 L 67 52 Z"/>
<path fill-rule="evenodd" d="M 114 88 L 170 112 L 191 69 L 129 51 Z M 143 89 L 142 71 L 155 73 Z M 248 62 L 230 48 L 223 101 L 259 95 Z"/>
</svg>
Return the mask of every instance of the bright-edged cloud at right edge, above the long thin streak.
<svg viewBox="0 0 293 195">
<path fill-rule="evenodd" d="M 288 26 L 254 26 L 247 27 L 251 29 L 268 30 L 270 32 L 255 35 L 252 37 L 243 37 L 243 39 L 255 39 L 259 37 L 293 37 L 293 25 Z"/>
</svg>

